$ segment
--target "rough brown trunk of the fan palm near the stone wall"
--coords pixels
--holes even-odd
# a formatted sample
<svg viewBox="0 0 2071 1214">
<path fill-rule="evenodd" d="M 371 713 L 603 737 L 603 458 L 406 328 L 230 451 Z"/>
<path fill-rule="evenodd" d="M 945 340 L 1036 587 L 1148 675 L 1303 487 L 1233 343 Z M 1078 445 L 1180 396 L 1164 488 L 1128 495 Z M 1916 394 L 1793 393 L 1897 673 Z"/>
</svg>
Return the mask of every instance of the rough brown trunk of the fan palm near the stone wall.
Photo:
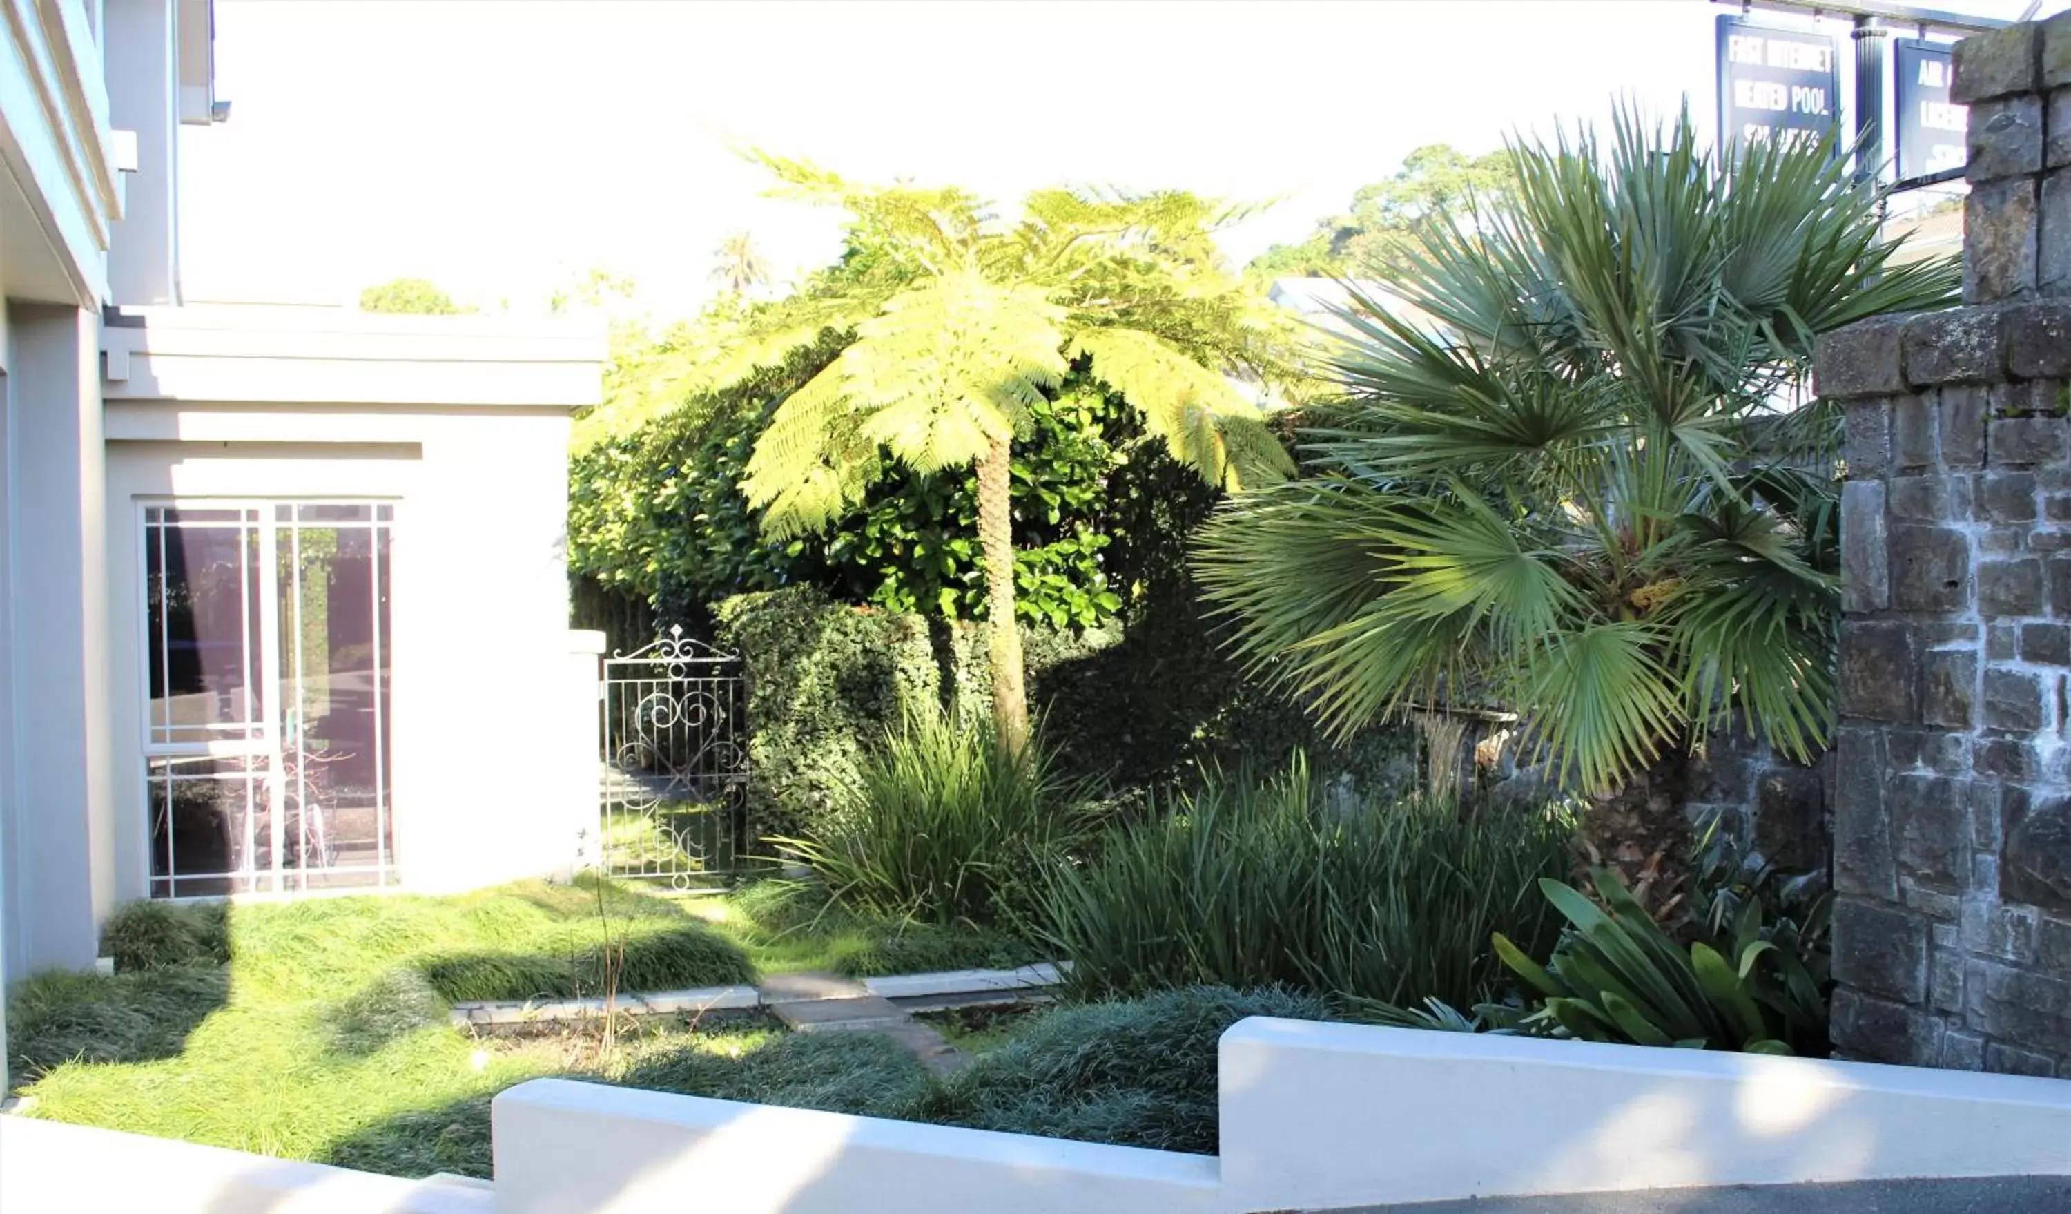
<svg viewBox="0 0 2071 1214">
<path fill-rule="evenodd" d="M 1624 787 L 1591 796 L 1580 825 L 1586 862 L 1615 870 L 1665 926 L 1690 897 L 1688 787 L 1690 756 L 1671 746 Z"/>
</svg>

